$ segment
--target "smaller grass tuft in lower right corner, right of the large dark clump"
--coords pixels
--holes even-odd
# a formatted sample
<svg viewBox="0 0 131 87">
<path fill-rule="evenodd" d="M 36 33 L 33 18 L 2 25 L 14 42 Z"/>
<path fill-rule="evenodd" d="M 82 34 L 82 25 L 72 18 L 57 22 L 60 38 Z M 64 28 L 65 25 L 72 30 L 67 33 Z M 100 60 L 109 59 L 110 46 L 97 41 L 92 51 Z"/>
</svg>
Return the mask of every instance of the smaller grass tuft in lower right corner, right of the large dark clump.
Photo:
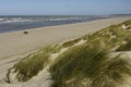
<svg viewBox="0 0 131 87">
<path fill-rule="evenodd" d="M 126 76 L 131 76 L 131 60 L 115 57 L 112 60 L 105 62 L 105 67 L 99 77 L 93 79 L 91 87 L 116 87 L 122 85 Z"/>
</svg>

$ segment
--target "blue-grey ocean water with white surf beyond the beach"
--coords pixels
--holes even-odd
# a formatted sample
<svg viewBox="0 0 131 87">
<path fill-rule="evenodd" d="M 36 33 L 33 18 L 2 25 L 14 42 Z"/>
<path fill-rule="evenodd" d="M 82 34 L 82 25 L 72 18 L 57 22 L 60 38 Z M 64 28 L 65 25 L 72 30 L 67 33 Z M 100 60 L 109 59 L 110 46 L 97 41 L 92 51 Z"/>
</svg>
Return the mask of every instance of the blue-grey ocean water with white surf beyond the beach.
<svg viewBox="0 0 131 87">
<path fill-rule="evenodd" d="M 27 28 L 44 26 L 73 24 L 107 17 L 109 16 L 100 15 L 0 16 L 0 33 L 24 30 Z"/>
</svg>

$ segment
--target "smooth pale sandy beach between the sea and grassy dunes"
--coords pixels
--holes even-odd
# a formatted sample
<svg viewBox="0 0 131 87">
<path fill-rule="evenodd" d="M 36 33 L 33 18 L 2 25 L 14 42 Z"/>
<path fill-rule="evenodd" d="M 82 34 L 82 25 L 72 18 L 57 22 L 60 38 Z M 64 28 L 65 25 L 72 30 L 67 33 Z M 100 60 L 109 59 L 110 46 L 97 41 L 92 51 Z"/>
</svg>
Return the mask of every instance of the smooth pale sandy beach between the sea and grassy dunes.
<svg viewBox="0 0 131 87">
<path fill-rule="evenodd" d="M 131 20 L 131 16 L 26 29 L 26 35 L 23 30 L 0 34 L 0 79 L 15 62 L 41 47 L 84 36 L 127 20 Z"/>
</svg>

